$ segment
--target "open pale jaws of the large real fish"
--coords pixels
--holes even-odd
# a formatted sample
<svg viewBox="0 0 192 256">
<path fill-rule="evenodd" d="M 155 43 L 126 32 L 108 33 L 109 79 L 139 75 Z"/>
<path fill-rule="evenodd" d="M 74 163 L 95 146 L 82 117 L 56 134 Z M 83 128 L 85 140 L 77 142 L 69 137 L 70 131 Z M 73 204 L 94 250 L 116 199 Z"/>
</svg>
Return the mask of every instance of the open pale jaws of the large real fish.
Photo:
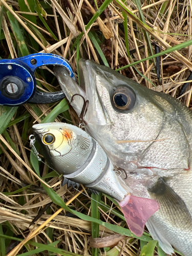
<svg viewBox="0 0 192 256">
<path fill-rule="evenodd" d="M 86 116 L 83 119 L 86 122 L 96 122 L 97 124 L 105 125 L 109 114 L 103 106 L 102 100 L 97 90 L 97 78 L 102 78 L 102 67 L 92 60 L 79 59 L 79 84 L 74 81 L 68 71 L 61 67 L 55 66 L 54 73 L 60 84 L 62 91 L 66 94 L 67 99 L 73 109 L 80 116 L 83 101 L 89 100 L 89 108 Z M 80 96 L 77 96 L 80 94 Z M 71 102 L 72 96 L 75 95 Z M 83 100 L 84 98 L 84 100 Z M 99 120 L 98 120 L 99 117 Z"/>
</svg>

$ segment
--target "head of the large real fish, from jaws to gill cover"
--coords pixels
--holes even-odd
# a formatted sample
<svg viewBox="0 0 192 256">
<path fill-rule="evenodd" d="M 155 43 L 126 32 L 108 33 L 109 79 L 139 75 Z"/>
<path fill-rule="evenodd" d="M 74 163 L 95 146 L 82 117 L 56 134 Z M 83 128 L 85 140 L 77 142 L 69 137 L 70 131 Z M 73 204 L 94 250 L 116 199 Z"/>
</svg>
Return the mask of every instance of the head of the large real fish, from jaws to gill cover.
<svg viewBox="0 0 192 256">
<path fill-rule="evenodd" d="M 170 124 L 169 119 L 176 114 L 175 107 L 178 104 L 171 96 L 149 90 L 92 60 L 79 61 L 80 87 L 62 67 L 55 68 L 55 74 L 69 101 L 76 93 L 89 100 L 89 108 L 84 116 L 88 123 L 86 131 L 99 142 L 118 167 L 132 171 L 144 166 L 146 172 L 147 168 L 152 166 L 167 168 L 160 160 L 160 154 L 158 159 L 155 159 L 160 147 L 163 146 L 166 151 L 165 144 L 169 145 L 169 150 L 174 148 L 174 153 L 178 152 L 178 157 L 185 148 L 187 142 L 185 146 L 179 143 L 181 148 L 178 151 L 177 144 L 181 139 L 178 129 L 182 130 L 180 123 L 176 120 Z M 83 104 L 81 97 L 76 96 L 71 104 L 80 115 Z M 188 129 L 188 134 L 189 130 L 191 129 Z M 177 139 L 173 140 L 175 131 Z M 184 134 L 181 137 L 183 138 Z M 147 155 L 146 151 L 156 140 L 158 141 L 155 150 Z M 182 157 L 184 154 L 181 154 Z M 170 161 L 173 163 L 174 154 L 169 155 L 172 155 Z M 150 162 L 149 158 L 153 160 Z M 178 163 L 180 160 L 181 157 Z M 182 166 L 188 168 L 187 160 L 184 161 L 185 163 L 180 161 Z"/>
</svg>

